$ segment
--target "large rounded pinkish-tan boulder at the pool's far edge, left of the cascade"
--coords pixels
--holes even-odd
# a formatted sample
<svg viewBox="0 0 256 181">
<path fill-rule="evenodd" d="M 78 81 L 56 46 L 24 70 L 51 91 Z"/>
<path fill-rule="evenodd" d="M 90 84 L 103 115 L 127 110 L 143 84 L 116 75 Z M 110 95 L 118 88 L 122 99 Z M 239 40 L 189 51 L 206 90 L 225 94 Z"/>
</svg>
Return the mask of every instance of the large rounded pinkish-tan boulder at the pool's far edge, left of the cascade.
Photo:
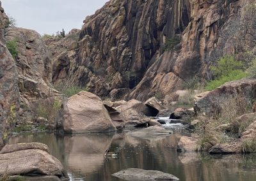
<svg viewBox="0 0 256 181">
<path fill-rule="evenodd" d="M 68 99 L 63 118 L 65 133 L 116 131 L 116 127 L 101 99 L 86 91 L 81 91 Z"/>
</svg>

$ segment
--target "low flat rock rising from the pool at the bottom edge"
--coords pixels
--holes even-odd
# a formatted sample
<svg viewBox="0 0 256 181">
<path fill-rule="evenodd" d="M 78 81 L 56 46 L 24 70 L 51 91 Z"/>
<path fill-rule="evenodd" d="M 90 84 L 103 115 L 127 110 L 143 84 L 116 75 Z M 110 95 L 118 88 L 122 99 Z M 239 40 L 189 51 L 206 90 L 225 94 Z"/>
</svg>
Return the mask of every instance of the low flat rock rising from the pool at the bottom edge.
<svg viewBox="0 0 256 181">
<path fill-rule="evenodd" d="M 139 168 L 128 168 L 126 170 L 118 171 L 114 173 L 113 176 L 131 181 L 179 180 L 179 178 L 170 173 L 163 173 L 162 171 L 157 170 L 142 170 Z"/>
</svg>

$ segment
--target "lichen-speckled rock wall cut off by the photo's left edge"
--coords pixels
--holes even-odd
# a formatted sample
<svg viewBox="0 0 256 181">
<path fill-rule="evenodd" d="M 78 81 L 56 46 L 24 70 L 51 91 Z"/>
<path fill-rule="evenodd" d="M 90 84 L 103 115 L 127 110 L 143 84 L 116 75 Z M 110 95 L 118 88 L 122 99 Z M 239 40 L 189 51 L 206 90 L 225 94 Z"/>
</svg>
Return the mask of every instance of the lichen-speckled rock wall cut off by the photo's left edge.
<svg viewBox="0 0 256 181">
<path fill-rule="evenodd" d="M 4 40 L 6 21 L 0 1 L 0 150 L 12 132 L 20 106 L 18 73 Z"/>
</svg>

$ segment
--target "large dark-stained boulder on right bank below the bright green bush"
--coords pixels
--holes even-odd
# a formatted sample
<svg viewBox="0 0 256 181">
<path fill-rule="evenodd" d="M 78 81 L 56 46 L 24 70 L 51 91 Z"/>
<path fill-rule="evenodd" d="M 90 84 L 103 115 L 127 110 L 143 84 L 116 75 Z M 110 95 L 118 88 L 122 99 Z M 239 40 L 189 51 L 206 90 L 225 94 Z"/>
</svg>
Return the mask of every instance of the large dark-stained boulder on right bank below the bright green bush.
<svg viewBox="0 0 256 181">
<path fill-rule="evenodd" d="M 244 93 L 246 92 L 246 94 Z M 227 108 L 222 108 L 228 101 L 232 101 L 234 111 L 243 112 L 246 105 L 241 105 L 241 99 L 253 100 L 256 98 L 256 78 L 236 80 L 227 82 L 221 87 L 214 89 L 211 92 L 204 92 L 197 95 L 195 100 L 194 110 L 196 113 L 204 112 L 207 115 L 214 115 L 226 111 Z"/>
</svg>

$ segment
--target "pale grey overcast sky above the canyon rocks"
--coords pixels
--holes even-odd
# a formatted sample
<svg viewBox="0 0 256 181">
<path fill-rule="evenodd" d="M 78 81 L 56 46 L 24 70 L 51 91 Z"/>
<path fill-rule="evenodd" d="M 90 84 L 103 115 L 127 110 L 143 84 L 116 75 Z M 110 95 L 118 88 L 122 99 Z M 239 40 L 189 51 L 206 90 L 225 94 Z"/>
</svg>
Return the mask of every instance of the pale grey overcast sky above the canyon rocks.
<svg viewBox="0 0 256 181">
<path fill-rule="evenodd" d="M 83 20 L 108 0 L 0 0 L 17 27 L 34 29 L 40 34 L 72 28 L 81 29 Z"/>
</svg>

